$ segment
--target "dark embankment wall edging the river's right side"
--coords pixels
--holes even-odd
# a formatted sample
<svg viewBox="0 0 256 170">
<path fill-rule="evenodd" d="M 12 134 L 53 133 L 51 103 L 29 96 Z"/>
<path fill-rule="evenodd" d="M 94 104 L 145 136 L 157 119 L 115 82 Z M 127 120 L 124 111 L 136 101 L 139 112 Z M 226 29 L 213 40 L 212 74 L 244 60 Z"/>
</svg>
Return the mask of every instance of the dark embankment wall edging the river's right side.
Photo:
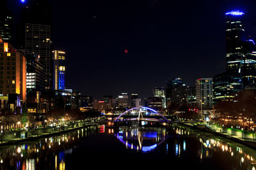
<svg viewBox="0 0 256 170">
<path fill-rule="evenodd" d="M 205 128 L 198 128 L 197 126 L 195 125 L 189 125 L 189 124 L 184 124 L 183 122 L 179 122 L 177 124 L 180 124 L 180 125 L 184 125 L 184 126 L 187 126 L 187 127 L 190 127 L 191 129 L 197 129 L 197 130 L 200 130 L 200 131 L 203 131 L 203 132 L 210 132 L 212 134 L 216 134 L 218 136 L 221 136 L 221 137 L 224 137 L 224 138 L 227 138 L 227 139 L 230 139 L 232 141 L 236 141 L 237 143 L 241 143 L 245 146 L 248 146 L 250 148 L 252 148 L 253 150 L 256 150 L 256 142 L 253 142 L 253 141 L 244 141 L 243 139 L 239 139 L 239 138 L 236 138 L 234 136 L 229 136 L 225 133 L 221 133 L 221 132 L 216 132 L 216 131 L 212 131 L 212 129 L 210 129 L 209 127 L 205 126 Z"/>
</svg>

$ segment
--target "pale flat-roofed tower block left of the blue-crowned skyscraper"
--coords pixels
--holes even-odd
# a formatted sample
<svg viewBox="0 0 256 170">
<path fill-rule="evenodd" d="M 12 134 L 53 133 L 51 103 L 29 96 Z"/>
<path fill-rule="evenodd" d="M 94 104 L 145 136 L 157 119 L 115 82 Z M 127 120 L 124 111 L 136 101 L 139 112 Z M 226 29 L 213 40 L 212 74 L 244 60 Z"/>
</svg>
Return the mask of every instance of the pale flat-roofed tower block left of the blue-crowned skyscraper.
<svg viewBox="0 0 256 170">
<path fill-rule="evenodd" d="M 196 106 L 202 110 L 212 109 L 212 78 L 196 80 Z"/>
</svg>

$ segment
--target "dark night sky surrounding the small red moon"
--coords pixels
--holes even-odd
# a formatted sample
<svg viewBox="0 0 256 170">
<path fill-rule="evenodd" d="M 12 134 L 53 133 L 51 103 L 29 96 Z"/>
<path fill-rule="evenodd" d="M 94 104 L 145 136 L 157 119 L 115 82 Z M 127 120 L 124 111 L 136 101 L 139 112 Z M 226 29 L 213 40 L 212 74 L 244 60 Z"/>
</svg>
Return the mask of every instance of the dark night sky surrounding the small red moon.
<svg viewBox="0 0 256 170">
<path fill-rule="evenodd" d="M 227 11 L 244 11 L 246 34 L 256 35 L 255 0 L 52 3 L 53 43 L 67 52 L 66 88 L 93 97 L 150 97 L 177 76 L 195 86 L 225 71 Z"/>
</svg>

